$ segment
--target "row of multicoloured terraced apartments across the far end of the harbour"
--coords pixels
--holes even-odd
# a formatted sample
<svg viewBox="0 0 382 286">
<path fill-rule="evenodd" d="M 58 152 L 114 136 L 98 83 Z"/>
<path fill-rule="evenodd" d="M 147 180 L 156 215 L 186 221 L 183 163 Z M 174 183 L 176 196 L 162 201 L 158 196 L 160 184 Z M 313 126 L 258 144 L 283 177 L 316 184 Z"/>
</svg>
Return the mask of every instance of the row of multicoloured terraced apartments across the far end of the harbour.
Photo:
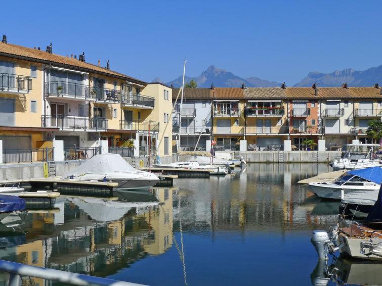
<svg viewBox="0 0 382 286">
<path fill-rule="evenodd" d="M 205 88 L 185 89 L 185 99 L 205 104 L 195 95 Z M 218 150 L 238 150 L 239 141 L 246 140 L 248 151 L 281 150 L 290 140 L 292 150 L 307 150 L 304 142 L 325 139 L 326 150 L 338 150 L 353 139 L 370 142 L 366 136 L 368 122 L 382 117 L 382 89 L 373 87 L 249 87 L 209 88 L 212 132 L 204 140 L 215 139 Z M 174 93 L 173 93 L 174 94 Z M 179 101 L 178 101 L 179 102 Z M 183 105 L 184 106 L 184 105 Z M 183 108 L 184 110 L 184 108 Z M 184 112 L 184 111 L 183 111 Z M 199 109 L 195 109 L 197 118 Z M 182 123 L 189 124 L 187 116 Z M 199 118 L 200 120 L 200 118 Z M 192 119 L 191 123 L 196 119 Z M 174 121 L 174 138 L 177 122 Z M 181 127 L 182 128 L 182 127 Z M 204 129 L 203 129 L 204 130 Z M 200 131 L 187 133 L 195 138 Z M 186 139 L 181 139 L 184 146 Z M 190 140 L 194 145 L 194 140 Z M 202 144 L 204 141 L 201 141 Z M 199 144 L 205 150 L 205 145 Z"/>
</svg>

